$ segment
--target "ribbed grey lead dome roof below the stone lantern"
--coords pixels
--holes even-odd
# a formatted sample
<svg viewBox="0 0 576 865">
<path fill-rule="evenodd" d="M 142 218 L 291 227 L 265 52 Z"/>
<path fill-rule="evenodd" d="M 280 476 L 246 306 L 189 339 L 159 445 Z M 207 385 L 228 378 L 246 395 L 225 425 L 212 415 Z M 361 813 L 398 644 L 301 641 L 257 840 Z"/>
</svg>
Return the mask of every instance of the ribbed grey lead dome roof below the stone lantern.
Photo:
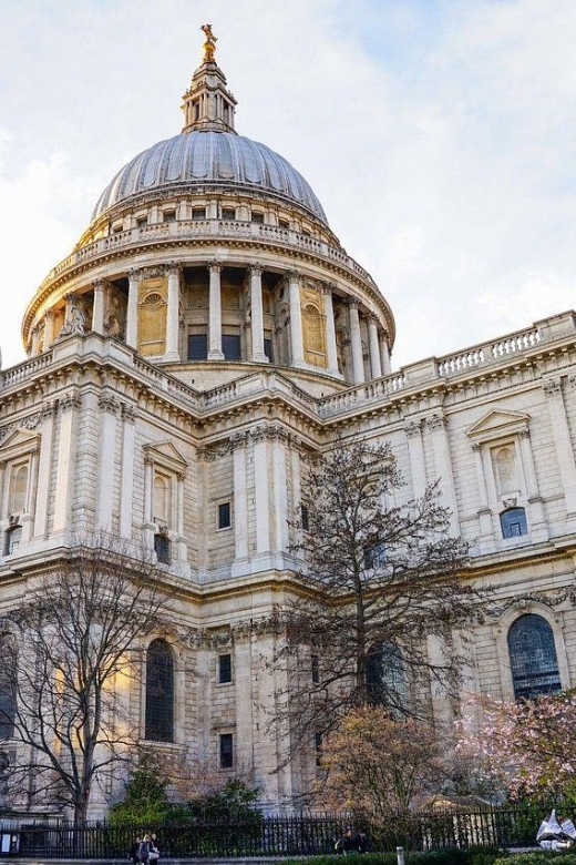
<svg viewBox="0 0 576 865">
<path fill-rule="evenodd" d="M 328 224 L 309 183 L 290 163 L 257 141 L 235 132 L 183 132 L 140 153 L 119 171 L 92 218 L 121 202 L 163 187 L 229 187 L 288 199 Z"/>
</svg>

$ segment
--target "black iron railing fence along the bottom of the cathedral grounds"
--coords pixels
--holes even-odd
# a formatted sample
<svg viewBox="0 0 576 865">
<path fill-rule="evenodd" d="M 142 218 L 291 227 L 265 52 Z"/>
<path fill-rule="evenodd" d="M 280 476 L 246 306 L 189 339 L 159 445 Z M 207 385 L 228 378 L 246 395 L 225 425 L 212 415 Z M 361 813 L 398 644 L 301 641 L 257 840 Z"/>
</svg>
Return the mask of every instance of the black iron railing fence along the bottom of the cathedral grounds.
<svg viewBox="0 0 576 865">
<path fill-rule="evenodd" d="M 564 813 L 575 818 L 573 810 Z M 475 811 L 431 811 L 391 814 L 384 826 L 364 831 L 370 847 L 409 851 L 451 847 L 516 847 L 535 844 L 546 808 L 486 807 Z M 350 818 L 341 815 L 254 817 L 249 821 L 198 821 L 187 826 L 113 827 L 105 824 L 73 828 L 0 821 L 0 856 L 45 859 L 126 859 L 136 836 L 154 832 L 162 858 L 302 856 L 333 853 Z"/>
</svg>

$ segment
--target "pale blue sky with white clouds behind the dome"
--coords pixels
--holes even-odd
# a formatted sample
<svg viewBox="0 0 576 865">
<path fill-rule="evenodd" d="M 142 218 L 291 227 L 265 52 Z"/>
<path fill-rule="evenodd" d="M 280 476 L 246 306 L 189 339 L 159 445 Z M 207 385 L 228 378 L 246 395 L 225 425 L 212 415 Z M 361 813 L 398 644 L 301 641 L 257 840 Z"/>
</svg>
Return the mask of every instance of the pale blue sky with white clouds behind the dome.
<svg viewBox="0 0 576 865">
<path fill-rule="evenodd" d="M 200 24 L 397 322 L 394 368 L 576 307 L 574 0 L 0 0 L 0 348 L 116 171 L 179 133 Z"/>
</svg>

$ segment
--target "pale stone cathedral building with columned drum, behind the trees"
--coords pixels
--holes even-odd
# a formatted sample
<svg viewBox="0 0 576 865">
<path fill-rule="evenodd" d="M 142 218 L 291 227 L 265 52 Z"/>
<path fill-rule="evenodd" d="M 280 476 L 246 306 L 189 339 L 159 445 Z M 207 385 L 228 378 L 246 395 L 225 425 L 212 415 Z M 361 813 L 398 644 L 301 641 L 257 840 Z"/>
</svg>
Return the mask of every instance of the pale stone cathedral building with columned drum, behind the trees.
<svg viewBox="0 0 576 865">
<path fill-rule="evenodd" d="M 225 85 L 205 60 L 178 139 L 236 134 Z M 199 92 L 212 94 L 205 122 L 188 103 Z M 336 436 L 389 440 L 405 499 L 440 478 L 471 578 L 492 587 L 462 700 L 514 696 L 508 634 L 528 613 L 552 629 L 560 685 L 574 685 L 576 317 L 392 373 L 388 303 L 300 175 L 288 166 L 276 182 L 271 152 L 247 141 L 240 179 L 183 179 L 171 162 L 123 195 L 121 172 L 31 301 L 29 359 L 0 376 L 0 613 L 78 535 L 156 549 L 178 587 L 163 634 L 174 742 L 157 746 L 222 762 L 224 736 L 224 775 L 244 772 L 277 811 L 306 788 L 313 755 L 274 772 L 289 735 L 266 732 L 281 683 L 263 659 L 299 567 L 301 457 Z M 144 706 L 134 689 L 143 739 Z M 436 695 L 434 711 L 452 710 Z"/>
</svg>

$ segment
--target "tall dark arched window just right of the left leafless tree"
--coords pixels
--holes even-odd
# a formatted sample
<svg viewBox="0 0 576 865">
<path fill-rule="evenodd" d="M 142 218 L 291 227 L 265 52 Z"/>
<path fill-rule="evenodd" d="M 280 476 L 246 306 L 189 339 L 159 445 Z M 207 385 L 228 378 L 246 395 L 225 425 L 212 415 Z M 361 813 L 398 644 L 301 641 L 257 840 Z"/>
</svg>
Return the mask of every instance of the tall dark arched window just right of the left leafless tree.
<svg viewBox="0 0 576 865">
<path fill-rule="evenodd" d="M 146 653 L 146 724 L 150 742 L 174 742 L 174 657 L 165 640 Z"/>
</svg>

